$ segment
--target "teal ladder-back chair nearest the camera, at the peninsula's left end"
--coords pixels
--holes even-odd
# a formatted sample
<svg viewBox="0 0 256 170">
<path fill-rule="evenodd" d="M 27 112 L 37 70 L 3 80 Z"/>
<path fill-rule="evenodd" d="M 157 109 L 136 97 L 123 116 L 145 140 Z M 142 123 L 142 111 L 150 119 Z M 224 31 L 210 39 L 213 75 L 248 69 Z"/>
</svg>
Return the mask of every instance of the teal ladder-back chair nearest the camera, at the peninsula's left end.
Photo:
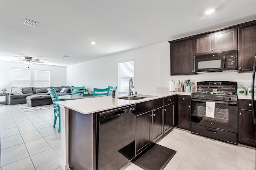
<svg viewBox="0 0 256 170">
<path fill-rule="evenodd" d="M 58 117 L 59 118 L 59 130 L 58 130 L 58 132 L 60 132 L 60 125 L 61 125 L 60 124 L 60 106 L 58 104 L 56 104 L 55 102 L 62 101 L 62 100 L 60 100 L 58 98 L 58 95 L 57 95 L 56 90 L 54 88 L 52 88 L 52 89 L 48 88 L 47 90 L 51 95 L 52 104 L 53 104 L 53 108 L 54 108 L 54 124 L 53 124 L 53 127 L 55 127 L 57 117 Z"/>
</svg>

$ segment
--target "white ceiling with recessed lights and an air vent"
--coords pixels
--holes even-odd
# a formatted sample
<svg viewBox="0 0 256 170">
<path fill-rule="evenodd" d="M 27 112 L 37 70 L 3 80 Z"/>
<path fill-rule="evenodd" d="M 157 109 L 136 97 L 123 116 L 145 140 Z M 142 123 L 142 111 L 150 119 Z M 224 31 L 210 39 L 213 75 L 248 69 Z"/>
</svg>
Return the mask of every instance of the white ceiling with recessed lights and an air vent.
<svg viewBox="0 0 256 170">
<path fill-rule="evenodd" d="M 252 20 L 256 0 L 0 0 L 0 60 L 68 66 Z"/>
</svg>

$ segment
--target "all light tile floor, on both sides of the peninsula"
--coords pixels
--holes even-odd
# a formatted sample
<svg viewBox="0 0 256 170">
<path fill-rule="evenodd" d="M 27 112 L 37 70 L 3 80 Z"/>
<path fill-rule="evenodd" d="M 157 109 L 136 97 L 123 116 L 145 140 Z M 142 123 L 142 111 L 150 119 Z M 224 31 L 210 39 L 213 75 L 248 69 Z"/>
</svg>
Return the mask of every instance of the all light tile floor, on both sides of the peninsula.
<svg viewBox="0 0 256 170">
<path fill-rule="evenodd" d="M 0 105 L 0 170 L 62 170 L 60 133 L 53 109 L 24 113 Z M 57 121 L 58 122 L 58 121 Z M 174 128 L 158 142 L 176 150 L 164 170 L 255 170 L 256 150 Z M 126 170 L 142 170 L 131 164 Z"/>
</svg>

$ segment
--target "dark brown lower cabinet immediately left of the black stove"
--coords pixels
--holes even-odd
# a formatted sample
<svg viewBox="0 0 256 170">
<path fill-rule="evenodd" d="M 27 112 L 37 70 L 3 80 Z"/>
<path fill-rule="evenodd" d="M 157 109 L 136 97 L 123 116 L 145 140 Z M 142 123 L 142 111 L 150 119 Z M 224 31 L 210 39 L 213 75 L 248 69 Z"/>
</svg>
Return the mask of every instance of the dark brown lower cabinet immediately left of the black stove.
<svg viewBox="0 0 256 170">
<path fill-rule="evenodd" d="M 176 127 L 191 130 L 190 96 L 178 95 Z"/>
</svg>

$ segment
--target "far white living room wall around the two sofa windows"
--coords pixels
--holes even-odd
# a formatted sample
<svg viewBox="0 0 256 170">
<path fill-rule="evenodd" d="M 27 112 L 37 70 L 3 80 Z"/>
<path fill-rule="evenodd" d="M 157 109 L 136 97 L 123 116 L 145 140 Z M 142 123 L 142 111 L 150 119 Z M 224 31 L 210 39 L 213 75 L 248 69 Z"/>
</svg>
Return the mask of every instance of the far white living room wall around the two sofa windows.
<svg viewBox="0 0 256 170">
<path fill-rule="evenodd" d="M 30 86 L 34 86 L 34 70 L 50 71 L 50 86 L 66 86 L 66 67 L 42 64 L 32 64 L 30 67 Z M 28 68 L 28 65 L 19 62 L 0 61 L 0 91 L 6 88 L 10 92 L 10 68 Z"/>
</svg>

